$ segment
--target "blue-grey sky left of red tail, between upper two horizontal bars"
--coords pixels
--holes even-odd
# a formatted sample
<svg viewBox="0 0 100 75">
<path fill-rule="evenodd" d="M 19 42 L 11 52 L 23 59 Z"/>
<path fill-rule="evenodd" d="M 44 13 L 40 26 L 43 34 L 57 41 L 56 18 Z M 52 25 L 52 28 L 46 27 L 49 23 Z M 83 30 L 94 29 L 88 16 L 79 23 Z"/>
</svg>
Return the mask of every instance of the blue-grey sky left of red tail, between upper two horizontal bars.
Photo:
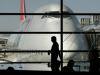
<svg viewBox="0 0 100 75">
<path fill-rule="evenodd" d="M 20 18 L 17 15 L 0 15 L 0 32 L 17 31 L 21 26 Z"/>
</svg>

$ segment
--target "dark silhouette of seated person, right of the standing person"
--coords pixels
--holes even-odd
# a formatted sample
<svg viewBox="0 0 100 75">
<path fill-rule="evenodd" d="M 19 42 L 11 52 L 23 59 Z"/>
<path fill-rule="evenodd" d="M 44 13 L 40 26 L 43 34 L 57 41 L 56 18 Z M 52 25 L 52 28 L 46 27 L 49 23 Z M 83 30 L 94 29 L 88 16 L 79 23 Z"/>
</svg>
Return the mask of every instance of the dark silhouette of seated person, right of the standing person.
<svg viewBox="0 0 100 75">
<path fill-rule="evenodd" d="M 73 66 L 74 66 L 74 61 L 73 60 L 69 60 L 67 66 L 64 66 L 62 68 L 62 72 L 75 72 L 73 70 Z"/>
</svg>

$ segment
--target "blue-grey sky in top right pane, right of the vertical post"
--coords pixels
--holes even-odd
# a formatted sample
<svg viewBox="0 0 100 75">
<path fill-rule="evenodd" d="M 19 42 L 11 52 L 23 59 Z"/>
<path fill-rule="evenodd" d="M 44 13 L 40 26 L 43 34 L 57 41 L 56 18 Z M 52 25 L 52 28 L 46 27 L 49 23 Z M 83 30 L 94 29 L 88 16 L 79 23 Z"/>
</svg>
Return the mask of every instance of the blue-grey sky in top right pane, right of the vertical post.
<svg viewBox="0 0 100 75">
<path fill-rule="evenodd" d="M 75 13 L 99 13 L 99 0 L 63 0 L 64 5 L 71 8 Z"/>
</svg>

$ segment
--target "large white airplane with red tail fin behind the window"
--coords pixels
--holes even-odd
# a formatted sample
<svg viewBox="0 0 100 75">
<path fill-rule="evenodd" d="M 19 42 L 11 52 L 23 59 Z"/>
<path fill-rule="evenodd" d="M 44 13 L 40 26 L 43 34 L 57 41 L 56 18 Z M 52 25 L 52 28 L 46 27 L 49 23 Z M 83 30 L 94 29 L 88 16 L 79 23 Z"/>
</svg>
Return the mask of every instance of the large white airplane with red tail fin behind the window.
<svg viewBox="0 0 100 75">
<path fill-rule="evenodd" d="M 20 0 L 21 13 L 25 13 L 25 0 Z M 73 13 L 73 11 L 66 5 L 63 6 L 63 11 L 66 13 Z M 59 4 L 49 4 L 40 7 L 34 13 L 60 13 Z M 21 15 L 21 27 L 17 31 L 24 32 L 60 32 L 60 15 L 33 15 L 30 20 L 27 16 Z M 80 24 L 74 15 L 63 16 L 63 32 L 82 32 Z M 56 36 L 61 50 L 60 34 L 12 34 L 8 38 L 7 50 L 51 50 L 51 37 Z M 63 34 L 63 50 L 88 50 L 88 44 L 84 34 Z M 63 53 L 63 60 L 87 60 L 87 53 Z M 14 62 L 27 61 L 51 61 L 50 55 L 47 53 L 12 53 L 4 58 Z M 59 59 L 59 58 L 58 58 Z M 34 70 L 51 70 L 47 64 L 41 67 L 40 64 L 34 65 Z M 24 65 L 25 66 L 25 65 Z M 37 67 L 38 66 L 38 67 Z M 29 69 L 29 68 L 27 68 Z M 33 70 L 33 68 L 32 68 Z"/>
</svg>

